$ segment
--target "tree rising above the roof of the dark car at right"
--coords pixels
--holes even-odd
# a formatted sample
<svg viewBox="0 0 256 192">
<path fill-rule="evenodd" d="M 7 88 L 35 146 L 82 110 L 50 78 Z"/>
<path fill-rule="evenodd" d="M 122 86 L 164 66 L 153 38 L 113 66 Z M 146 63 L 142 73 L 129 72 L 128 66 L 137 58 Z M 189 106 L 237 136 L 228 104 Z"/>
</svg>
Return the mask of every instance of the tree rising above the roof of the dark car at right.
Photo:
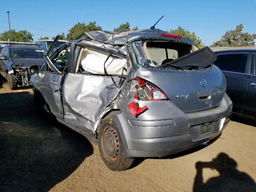
<svg viewBox="0 0 256 192">
<path fill-rule="evenodd" d="M 254 44 L 253 40 L 256 39 L 256 34 L 243 33 L 243 24 L 236 26 L 235 30 L 227 31 L 220 40 L 213 42 L 211 46 L 252 46 Z"/>
</svg>

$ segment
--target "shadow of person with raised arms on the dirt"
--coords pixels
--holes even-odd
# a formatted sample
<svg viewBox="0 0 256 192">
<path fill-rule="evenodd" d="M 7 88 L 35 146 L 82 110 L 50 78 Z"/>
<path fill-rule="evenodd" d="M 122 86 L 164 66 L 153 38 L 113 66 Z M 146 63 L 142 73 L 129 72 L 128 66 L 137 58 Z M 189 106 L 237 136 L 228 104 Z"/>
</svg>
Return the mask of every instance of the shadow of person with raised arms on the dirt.
<svg viewBox="0 0 256 192">
<path fill-rule="evenodd" d="M 196 162 L 194 192 L 255 192 L 256 183 L 246 173 L 236 169 L 237 163 L 225 153 L 220 153 L 211 162 Z M 217 170 L 220 176 L 212 177 L 203 183 L 204 168 Z"/>
</svg>

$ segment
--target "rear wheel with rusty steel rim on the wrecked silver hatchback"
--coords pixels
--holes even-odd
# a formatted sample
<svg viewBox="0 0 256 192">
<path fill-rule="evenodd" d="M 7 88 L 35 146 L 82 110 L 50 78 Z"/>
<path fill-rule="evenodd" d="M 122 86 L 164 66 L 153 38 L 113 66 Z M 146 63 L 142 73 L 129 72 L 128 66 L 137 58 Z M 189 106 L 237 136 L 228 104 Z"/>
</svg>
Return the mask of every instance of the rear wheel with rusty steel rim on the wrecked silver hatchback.
<svg viewBox="0 0 256 192">
<path fill-rule="evenodd" d="M 125 157 L 122 138 L 111 116 L 102 120 L 98 136 L 100 156 L 109 169 L 122 171 L 132 165 L 134 158 Z"/>
</svg>

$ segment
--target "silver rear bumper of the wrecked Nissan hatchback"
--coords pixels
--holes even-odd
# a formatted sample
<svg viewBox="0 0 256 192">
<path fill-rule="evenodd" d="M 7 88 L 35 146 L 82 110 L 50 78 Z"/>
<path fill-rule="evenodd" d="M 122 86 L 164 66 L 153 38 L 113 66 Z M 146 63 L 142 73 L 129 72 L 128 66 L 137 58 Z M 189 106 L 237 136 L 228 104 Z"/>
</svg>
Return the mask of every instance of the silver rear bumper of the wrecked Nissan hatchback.
<svg viewBox="0 0 256 192">
<path fill-rule="evenodd" d="M 220 106 L 190 114 L 183 113 L 171 102 L 151 103 L 155 106 L 147 103 L 148 110 L 138 118 L 128 111 L 112 115 L 128 157 L 162 157 L 200 145 L 218 136 L 232 113 L 232 102 L 227 94 Z M 157 110 L 159 108 L 162 110 Z M 201 134 L 201 126 L 209 123 L 212 131 Z"/>
</svg>

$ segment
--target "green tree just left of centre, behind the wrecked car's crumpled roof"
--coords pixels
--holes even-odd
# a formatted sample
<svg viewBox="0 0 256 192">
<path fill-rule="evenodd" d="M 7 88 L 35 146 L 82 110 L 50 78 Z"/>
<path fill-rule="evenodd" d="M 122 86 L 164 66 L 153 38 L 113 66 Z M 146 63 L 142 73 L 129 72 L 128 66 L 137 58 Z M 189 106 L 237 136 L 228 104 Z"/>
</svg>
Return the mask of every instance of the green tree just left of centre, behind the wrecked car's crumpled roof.
<svg viewBox="0 0 256 192">
<path fill-rule="evenodd" d="M 102 31 L 101 26 L 96 26 L 96 22 L 90 22 L 88 25 L 85 23 L 77 23 L 75 24 L 69 31 L 66 37 L 66 40 L 74 40 L 77 36 L 84 32 L 89 31 Z"/>
</svg>

